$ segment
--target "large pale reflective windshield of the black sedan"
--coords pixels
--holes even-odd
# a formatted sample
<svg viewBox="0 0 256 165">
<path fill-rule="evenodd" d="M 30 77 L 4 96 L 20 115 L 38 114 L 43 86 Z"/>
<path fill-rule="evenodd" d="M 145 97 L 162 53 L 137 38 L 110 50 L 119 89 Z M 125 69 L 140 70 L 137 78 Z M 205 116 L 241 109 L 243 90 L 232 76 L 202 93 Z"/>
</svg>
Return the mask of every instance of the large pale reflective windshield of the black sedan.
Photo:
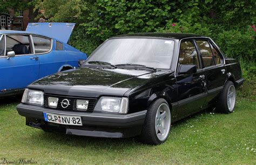
<svg viewBox="0 0 256 165">
<path fill-rule="evenodd" d="M 134 64 L 169 69 L 174 41 L 152 38 L 116 38 L 106 41 L 87 60 L 108 62 L 113 65 Z"/>
</svg>

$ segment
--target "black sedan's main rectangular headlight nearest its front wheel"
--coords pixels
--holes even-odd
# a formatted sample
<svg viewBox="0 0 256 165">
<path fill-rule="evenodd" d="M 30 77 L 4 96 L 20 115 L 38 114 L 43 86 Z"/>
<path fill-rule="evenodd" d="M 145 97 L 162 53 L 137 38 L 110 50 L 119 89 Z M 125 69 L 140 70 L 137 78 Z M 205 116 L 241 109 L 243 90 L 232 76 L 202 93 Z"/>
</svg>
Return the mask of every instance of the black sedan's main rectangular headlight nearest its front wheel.
<svg viewBox="0 0 256 165">
<path fill-rule="evenodd" d="M 122 97 L 100 97 L 95 106 L 94 111 L 114 112 L 114 113 L 127 113 L 128 111 L 128 98 Z"/>
</svg>

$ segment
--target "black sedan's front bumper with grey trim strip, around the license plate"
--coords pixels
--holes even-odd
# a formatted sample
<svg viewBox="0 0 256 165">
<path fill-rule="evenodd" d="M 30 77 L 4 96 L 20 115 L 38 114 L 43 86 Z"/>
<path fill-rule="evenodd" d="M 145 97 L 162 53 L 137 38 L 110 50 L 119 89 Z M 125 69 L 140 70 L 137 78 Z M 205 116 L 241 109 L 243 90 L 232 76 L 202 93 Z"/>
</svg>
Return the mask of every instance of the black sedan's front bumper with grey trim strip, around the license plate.
<svg viewBox="0 0 256 165">
<path fill-rule="evenodd" d="M 21 116 L 26 117 L 26 125 L 45 131 L 107 138 L 126 138 L 140 134 L 147 112 L 145 110 L 131 114 L 86 113 L 46 109 L 26 104 L 19 104 L 17 111 Z M 80 116 L 83 126 L 49 123 L 44 121 L 43 112 Z"/>
</svg>

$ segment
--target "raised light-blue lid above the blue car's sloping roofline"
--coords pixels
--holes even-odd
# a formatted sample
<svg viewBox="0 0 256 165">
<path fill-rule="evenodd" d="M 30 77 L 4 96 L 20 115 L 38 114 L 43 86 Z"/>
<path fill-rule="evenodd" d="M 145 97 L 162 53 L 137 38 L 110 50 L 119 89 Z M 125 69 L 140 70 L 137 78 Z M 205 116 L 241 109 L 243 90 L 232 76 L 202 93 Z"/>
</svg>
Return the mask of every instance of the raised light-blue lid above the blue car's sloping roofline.
<svg viewBox="0 0 256 165">
<path fill-rule="evenodd" d="M 67 43 L 75 23 L 29 23 L 26 31 L 42 34 Z"/>
</svg>

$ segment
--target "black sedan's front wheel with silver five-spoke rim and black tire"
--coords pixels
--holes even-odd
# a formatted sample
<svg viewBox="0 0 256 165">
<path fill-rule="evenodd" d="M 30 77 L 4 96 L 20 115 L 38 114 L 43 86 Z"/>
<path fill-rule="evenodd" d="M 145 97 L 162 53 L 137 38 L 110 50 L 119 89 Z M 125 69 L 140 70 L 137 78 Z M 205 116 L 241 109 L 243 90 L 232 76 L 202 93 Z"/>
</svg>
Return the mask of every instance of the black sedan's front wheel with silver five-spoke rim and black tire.
<svg viewBox="0 0 256 165">
<path fill-rule="evenodd" d="M 147 110 L 142 134 L 138 140 L 144 144 L 159 145 L 168 138 L 171 128 L 171 111 L 165 99 L 154 101 Z"/>
</svg>

